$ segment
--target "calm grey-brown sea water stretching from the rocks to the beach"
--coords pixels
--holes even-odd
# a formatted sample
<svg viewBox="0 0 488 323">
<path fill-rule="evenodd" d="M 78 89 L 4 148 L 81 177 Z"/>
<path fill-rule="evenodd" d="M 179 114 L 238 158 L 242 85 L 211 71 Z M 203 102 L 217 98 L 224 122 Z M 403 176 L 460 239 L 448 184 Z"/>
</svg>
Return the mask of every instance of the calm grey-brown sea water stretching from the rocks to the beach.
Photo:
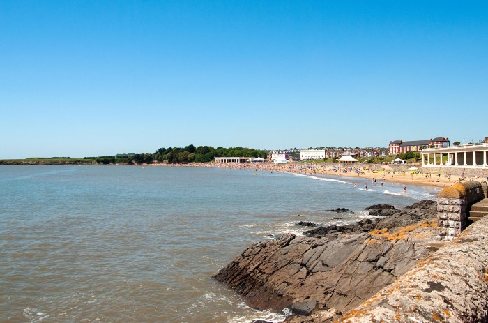
<svg viewBox="0 0 488 323">
<path fill-rule="evenodd" d="M 211 276 L 251 243 L 436 188 L 193 167 L 0 166 L 1 322 L 250 322 Z M 355 213 L 331 213 L 346 207 Z M 297 215 L 303 215 L 298 217 Z M 343 220 L 333 220 L 337 216 Z M 273 236 L 271 236 L 273 235 Z"/>
</svg>

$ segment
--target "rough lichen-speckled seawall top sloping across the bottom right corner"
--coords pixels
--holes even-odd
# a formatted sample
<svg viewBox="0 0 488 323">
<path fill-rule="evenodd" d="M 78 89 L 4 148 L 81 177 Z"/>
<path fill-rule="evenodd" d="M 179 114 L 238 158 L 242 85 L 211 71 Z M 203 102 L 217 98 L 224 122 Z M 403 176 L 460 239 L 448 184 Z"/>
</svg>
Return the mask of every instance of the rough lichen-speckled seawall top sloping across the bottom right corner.
<svg viewBox="0 0 488 323">
<path fill-rule="evenodd" d="M 339 322 L 488 322 L 488 217 Z"/>
</svg>

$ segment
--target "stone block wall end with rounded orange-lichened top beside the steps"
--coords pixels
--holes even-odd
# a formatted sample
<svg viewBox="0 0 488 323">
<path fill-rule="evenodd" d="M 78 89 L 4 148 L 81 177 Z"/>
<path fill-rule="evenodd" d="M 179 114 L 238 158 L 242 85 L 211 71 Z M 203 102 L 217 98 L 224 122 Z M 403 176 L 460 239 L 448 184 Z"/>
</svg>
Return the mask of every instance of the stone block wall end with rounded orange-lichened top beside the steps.
<svg viewBox="0 0 488 323">
<path fill-rule="evenodd" d="M 464 181 L 444 188 L 437 196 L 440 239 L 451 241 L 468 226 L 469 206 L 482 200 L 485 193 L 478 181 Z"/>
</svg>

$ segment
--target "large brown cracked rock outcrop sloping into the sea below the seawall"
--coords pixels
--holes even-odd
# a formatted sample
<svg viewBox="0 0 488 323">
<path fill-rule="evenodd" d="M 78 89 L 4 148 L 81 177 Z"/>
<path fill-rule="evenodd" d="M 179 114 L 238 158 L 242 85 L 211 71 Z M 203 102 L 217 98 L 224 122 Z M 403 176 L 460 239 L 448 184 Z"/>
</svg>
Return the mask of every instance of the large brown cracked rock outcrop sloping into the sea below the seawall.
<svg viewBox="0 0 488 323">
<path fill-rule="evenodd" d="M 326 320 L 323 315 L 358 306 L 436 250 L 436 221 L 435 202 L 422 201 L 388 218 L 286 234 L 250 246 L 215 278 L 256 308 L 308 315 L 289 322 Z"/>
</svg>

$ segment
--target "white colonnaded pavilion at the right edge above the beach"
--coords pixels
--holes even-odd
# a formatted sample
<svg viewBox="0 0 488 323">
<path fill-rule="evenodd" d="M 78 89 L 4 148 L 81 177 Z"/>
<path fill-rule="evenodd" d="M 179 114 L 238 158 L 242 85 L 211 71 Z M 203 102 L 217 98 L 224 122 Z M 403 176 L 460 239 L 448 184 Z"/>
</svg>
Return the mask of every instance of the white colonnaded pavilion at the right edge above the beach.
<svg viewBox="0 0 488 323">
<path fill-rule="evenodd" d="M 422 150 L 422 167 L 488 168 L 488 142 Z"/>
</svg>

